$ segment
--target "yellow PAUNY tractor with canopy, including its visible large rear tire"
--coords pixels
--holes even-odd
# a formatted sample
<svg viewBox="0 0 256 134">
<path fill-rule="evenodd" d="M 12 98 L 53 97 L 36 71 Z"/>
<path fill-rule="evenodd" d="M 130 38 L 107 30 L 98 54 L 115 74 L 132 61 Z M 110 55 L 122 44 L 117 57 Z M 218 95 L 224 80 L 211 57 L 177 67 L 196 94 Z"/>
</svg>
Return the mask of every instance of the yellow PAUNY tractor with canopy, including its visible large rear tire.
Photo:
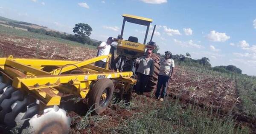
<svg viewBox="0 0 256 134">
<path fill-rule="evenodd" d="M 147 37 L 148 37 L 148 31 L 150 28 L 150 23 L 152 23 L 153 20 L 145 17 L 130 15 L 130 14 L 122 14 L 122 17 L 124 17 L 124 20 L 122 23 L 121 34 L 117 37 L 117 39 L 115 39 L 115 41 L 117 42 L 116 54 L 118 55 L 118 57 L 115 59 L 115 62 L 113 63 L 115 63 L 115 68 L 118 69 L 119 71 L 132 71 L 133 74 L 135 75 L 135 72 L 137 70 L 137 65 L 134 60 L 137 57 L 143 56 L 147 49 L 155 48 L 156 44 L 152 42 L 152 38 L 154 36 L 156 25 L 154 25 L 154 29 L 151 34 L 150 41 L 146 43 Z M 134 36 L 128 37 L 127 40 L 123 39 L 126 22 L 146 26 L 143 43 L 139 43 L 138 38 Z M 151 57 L 153 58 L 154 61 L 160 60 L 160 57 L 157 54 L 152 54 Z M 146 88 L 148 92 L 156 88 L 159 70 L 160 70 L 159 63 L 154 62 L 154 73 L 150 78 Z"/>
</svg>

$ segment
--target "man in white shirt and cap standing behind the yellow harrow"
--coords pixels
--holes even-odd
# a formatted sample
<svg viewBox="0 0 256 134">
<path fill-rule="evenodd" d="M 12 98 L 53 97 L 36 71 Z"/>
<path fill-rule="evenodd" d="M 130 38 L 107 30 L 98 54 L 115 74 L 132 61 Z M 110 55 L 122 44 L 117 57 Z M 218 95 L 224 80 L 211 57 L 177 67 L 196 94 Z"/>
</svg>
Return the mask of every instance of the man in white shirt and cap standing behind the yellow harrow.
<svg viewBox="0 0 256 134">
<path fill-rule="evenodd" d="M 113 43 L 113 40 L 114 40 L 113 37 L 109 37 L 107 42 L 102 42 L 97 47 L 97 49 L 98 49 L 97 57 L 109 54 L 109 51 L 110 51 L 110 48 L 111 48 L 111 44 Z M 107 62 L 107 58 L 99 60 L 99 61 L 95 62 L 95 66 L 106 68 L 106 62 Z"/>
</svg>

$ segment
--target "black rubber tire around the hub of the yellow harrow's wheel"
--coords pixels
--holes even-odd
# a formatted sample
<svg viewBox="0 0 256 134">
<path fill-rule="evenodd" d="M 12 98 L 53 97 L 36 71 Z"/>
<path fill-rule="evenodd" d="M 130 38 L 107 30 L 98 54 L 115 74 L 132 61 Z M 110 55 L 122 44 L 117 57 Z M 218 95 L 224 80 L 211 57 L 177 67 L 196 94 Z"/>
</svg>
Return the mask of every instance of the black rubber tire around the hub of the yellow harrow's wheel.
<svg viewBox="0 0 256 134">
<path fill-rule="evenodd" d="M 107 90 L 107 98 L 103 104 L 100 104 L 102 94 L 105 90 Z M 103 111 L 105 111 L 112 99 L 113 91 L 113 82 L 107 78 L 100 79 L 93 85 L 93 88 L 89 91 L 88 100 L 89 106 L 91 110 L 93 110 L 92 114 L 101 114 Z"/>
</svg>

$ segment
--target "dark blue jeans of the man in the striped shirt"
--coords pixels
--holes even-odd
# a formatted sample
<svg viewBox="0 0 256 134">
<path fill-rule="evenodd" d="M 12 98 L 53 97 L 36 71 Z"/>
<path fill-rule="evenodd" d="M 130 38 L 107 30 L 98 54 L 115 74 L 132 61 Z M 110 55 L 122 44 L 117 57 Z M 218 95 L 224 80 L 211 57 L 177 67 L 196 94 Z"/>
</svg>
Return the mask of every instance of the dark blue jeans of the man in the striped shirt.
<svg viewBox="0 0 256 134">
<path fill-rule="evenodd" d="M 156 97 L 159 97 L 160 90 L 163 86 L 163 90 L 161 92 L 161 98 L 164 98 L 166 95 L 166 88 L 168 85 L 169 76 L 168 75 L 158 75 L 158 82 L 157 82 L 157 91 L 156 91 Z"/>
</svg>

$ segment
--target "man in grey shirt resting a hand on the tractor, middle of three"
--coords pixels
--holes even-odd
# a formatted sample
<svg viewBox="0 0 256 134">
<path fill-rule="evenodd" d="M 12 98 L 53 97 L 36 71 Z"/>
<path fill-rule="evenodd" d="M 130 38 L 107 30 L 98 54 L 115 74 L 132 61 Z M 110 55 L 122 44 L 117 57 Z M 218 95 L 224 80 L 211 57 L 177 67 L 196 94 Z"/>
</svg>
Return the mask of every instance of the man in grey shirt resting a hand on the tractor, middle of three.
<svg viewBox="0 0 256 134">
<path fill-rule="evenodd" d="M 137 69 L 138 80 L 136 83 L 137 94 L 143 94 L 145 87 L 148 83 L 150 76 L 154 71 L 153 60 L 151 59 L 152 50 L 148 49 L 146 55 L 135 60 L 136 63 L 140 63 Z"/>
</svg>

